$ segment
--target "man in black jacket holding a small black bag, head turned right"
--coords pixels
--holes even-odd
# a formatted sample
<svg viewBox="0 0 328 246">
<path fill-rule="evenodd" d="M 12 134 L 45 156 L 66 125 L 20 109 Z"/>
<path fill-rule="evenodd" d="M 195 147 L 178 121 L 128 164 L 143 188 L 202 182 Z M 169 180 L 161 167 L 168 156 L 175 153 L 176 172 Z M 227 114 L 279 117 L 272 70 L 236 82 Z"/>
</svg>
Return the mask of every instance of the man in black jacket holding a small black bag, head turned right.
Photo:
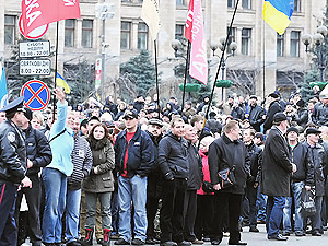
<svg viewBox="0 0 328 246">
<path fill-rule="evenodd" d="M 249 174 L 249 156 L 245 144 L 239 140 L 241 128 L 236 120 L 225 125 L 224 133 L 209 149 L 209 167 L 214 195 L 214 214 L 211 243 L 219 245 L 223 237 L 223 218 L 229 211 L 230 245 L 247 245 L 241 242 L 238 219 L 241 216 L 243 194 Z M 222 189 L 218 173 L 226 167 L 234 167 L 235 184 Z"/>
</svg>

